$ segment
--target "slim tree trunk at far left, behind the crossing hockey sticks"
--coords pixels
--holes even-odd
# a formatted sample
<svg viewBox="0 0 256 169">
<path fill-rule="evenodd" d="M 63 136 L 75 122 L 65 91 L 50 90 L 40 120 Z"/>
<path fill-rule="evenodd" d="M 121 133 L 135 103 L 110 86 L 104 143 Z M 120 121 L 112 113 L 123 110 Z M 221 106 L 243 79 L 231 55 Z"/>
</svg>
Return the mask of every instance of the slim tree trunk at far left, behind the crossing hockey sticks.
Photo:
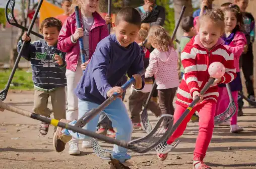
<svg viewBox="0 0 256 169">
<path fill-rule="evenodd" d="M 26 23 L 25 22 L 25 20 L 26 20 L 26 17 L 25 17 L 25 9 L 26 9 L 25 1 L 26 0 L 21 1 L 21 14 L 20 14 L 21 17 L 19 17 L 19 19 L 17 19 L 17 22 L 26 27 L 26 25 L 25 25 L 25 23 Z M 18 44 L 19 40 L 21 39 L 23 33 L 24 33 L 24 31 L 22 29 L 18 29 L 18 35 L 17 35 L 17 38 L 16 38 L 16 42 L 15 42 L 13 48 L 10 51 L 10 68 L 11 69 L 13 69 L 15 61 L 18 57 L 17 44 Z"/>
</svg>

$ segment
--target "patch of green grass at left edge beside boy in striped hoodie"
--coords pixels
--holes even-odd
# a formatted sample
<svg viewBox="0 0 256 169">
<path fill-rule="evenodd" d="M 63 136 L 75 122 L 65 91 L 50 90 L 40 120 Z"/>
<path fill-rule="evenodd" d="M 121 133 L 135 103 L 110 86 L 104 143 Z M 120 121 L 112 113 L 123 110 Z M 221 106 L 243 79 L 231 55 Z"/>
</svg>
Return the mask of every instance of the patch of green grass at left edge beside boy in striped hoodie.
<svg viewBox="0 0 256 169">
<path fill-rule="evenodd" d="M 11 70 L 0 71 L 0 90 L 3 90 L 6 87 L 10 74 Z M 10 89 L 31 90 L 33 88 L 32 73 L 27 73 L 26 70 L 16 70 Z"/>
</svg>

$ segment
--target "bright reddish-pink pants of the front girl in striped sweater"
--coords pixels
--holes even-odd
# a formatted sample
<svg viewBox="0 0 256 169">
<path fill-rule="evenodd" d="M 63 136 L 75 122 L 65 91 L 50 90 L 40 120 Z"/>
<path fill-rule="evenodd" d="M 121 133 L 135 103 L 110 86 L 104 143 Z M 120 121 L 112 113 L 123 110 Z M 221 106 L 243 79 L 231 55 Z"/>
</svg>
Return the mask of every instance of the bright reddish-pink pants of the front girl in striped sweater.
<svg viewBox="0 0 256 169">
<path fill-rule="evenodd" d="M 180 118 L 186 108 L 187 107 L 176 104 L 173 116 L 174 123 Z M 199 158 L 200 160 L 203 160 L 213 135 L 215 109 L 216 103 L 214 101 L 206 101 L 202 104 L 196 105 L 174 131 L 172 136 L 167 140 L 167 143 L 171 144 L 176 138 L 183 134 L 187 123 L 197 110 L 199 112 L 199 133 L 196 141 L 196 148 L 194 150 L 194 159 Z"/>
</svg>

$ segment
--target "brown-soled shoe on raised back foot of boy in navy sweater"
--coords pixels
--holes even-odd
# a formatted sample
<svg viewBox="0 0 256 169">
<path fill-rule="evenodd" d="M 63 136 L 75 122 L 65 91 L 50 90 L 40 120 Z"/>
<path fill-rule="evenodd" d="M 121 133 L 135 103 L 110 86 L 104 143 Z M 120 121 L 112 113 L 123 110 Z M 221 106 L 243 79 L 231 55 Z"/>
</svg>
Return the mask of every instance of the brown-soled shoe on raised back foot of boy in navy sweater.
<svg viewBox="0 0 256 169">
<path fill-rule="evenodd" d="M 69 123 L 70 121 L 66 119 L 61 119 L 59 122 Z M 65 145 L 72 139 L 71 135 L 65 135 L 62 131 L 63 128 L 57 127 L 56 132 L 53 135 L 52 143 L 53 147 L 57 152 L 61 152 L 65 149 Z"/>
</svg>

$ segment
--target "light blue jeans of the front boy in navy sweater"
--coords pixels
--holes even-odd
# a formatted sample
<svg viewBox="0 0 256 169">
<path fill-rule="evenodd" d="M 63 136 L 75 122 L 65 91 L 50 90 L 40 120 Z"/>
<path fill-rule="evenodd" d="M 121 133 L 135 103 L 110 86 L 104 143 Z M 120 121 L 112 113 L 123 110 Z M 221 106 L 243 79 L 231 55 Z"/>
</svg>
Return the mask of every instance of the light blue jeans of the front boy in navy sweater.
<svg viewBox="0 0 256 169">
<path fill-rule="evenodd" d="M 93 108 L 97 108 L 98 106 L 99 104 L 78 99 L 79 118 L 81 118 L 85 112 L 88 112 Z M 109 104 L 103 110 L 103 112 L 112 121 L 112 126 L 115 127 L 117 130 L 115 138 L 117 140 L 123 140 L 126 142 L 131 141 L 132 133 L 133 133 L 133 124 L 122 100 L 120 98 L 117 98 L 111 104 Z M 98 121 L 99 121 L 99 116 L 100 116 L 100 113 L 97 116 L 95 116 L 91 121 L 89 121 L 83 127 L 83 129 L 95 132 Z M 75 123 L 76 123 L 76 120 L 70 122 L 71 125 L 75 125 Z M 81 140 L 90 139 L 90 137 L 84 134 L 80 134 L 77 132 L 75 133 L 68 129 L 62 130 L 62 132 L 66 135 L 72 135 L 74 138 L 77 138 L 77 139 L 81 139 Z M 123 148 L 117 145 L 114 145 L 112 157 L 119 160 L 120 162 L 124 162 L 131 158 L 131 156 L 127 154 L 126 148 Z"/>
</svg>

